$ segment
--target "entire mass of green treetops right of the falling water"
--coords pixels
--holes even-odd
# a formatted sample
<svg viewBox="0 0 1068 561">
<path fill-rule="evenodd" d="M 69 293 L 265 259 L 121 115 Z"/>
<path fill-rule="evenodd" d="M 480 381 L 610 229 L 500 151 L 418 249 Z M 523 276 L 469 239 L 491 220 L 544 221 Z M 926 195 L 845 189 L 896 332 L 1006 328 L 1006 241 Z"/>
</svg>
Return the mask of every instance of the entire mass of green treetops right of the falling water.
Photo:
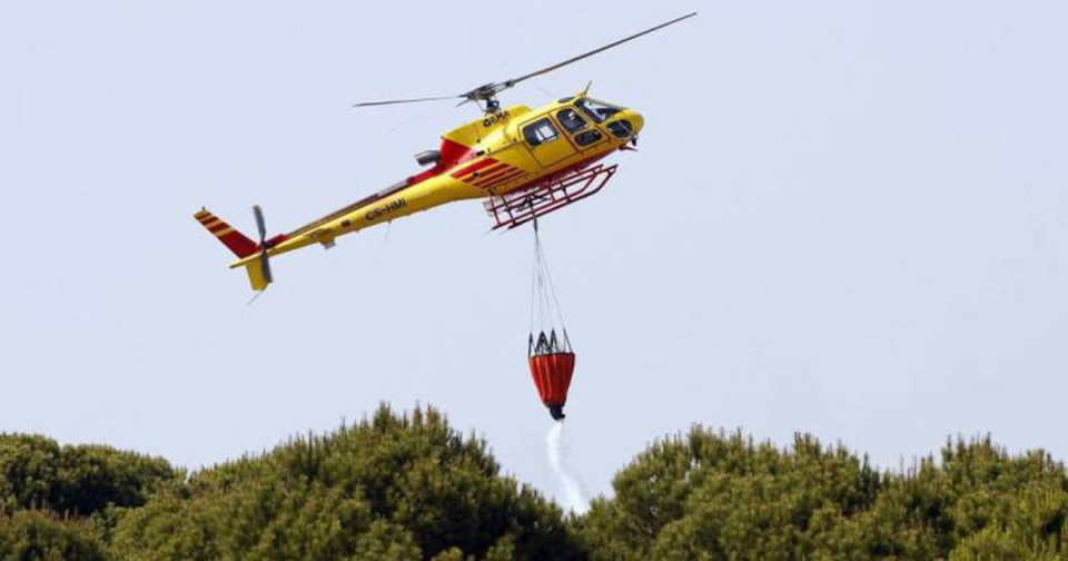
<svg viewBox="0 0 1068 561">
<path fill-rule="evenodd" d="M 694 427 L 621 471 L 577 522 L 593 559 L 1068 558 L 1068 480 L 1048 454 L 989 437 L 878 473 L 798 435 L 780 451 Z M 1058 558 L 1058 559 L 1059 559 Z"/>
</svg>

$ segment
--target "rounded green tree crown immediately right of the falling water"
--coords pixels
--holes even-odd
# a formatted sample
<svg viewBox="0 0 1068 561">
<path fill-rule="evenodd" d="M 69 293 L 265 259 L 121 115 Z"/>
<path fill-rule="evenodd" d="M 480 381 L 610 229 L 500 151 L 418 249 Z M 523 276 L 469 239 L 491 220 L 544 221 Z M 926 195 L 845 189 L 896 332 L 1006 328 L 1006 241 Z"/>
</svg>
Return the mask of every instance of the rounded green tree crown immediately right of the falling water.
<svg viewBox="0 0 1068 561">
<path fill-rule="evenodd" d="M 810 436 L 782 452 L 694 427 L 620 472 L 584 538 L 594 559 L 814 558 L 880 485 L 867 462 Z"/>
</svg>

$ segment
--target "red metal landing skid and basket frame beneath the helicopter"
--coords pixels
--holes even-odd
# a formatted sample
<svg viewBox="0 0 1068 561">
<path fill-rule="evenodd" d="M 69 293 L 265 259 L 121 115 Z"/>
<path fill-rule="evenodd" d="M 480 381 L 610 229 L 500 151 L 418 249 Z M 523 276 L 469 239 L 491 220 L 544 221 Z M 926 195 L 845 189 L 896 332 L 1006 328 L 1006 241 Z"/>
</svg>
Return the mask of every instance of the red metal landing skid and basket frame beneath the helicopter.
<svg viewBox="0 0 1068 561">
<path fill-rule="evenodd" d="M 616 167 L 597 164 L 541 185 L 490 197 L 484 204 L 486 214 L 495 222 L 493 229 L 522 226 L 597 193 L 615 175 Z"/>
</svg>

